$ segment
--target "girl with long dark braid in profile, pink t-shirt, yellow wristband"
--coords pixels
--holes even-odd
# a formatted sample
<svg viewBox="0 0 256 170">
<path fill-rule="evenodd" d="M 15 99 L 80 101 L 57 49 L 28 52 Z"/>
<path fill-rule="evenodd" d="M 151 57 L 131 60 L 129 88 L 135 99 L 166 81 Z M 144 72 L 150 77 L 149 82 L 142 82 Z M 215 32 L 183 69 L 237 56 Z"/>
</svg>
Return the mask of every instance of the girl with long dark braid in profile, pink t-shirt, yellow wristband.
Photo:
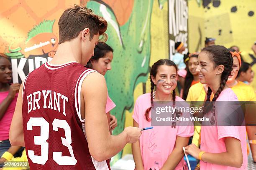
<svg viewBox="0 0 256 170">
<path fill-rule="evenodd" d="M 198 57 L 197 72 L 200 82 L 208 85 L 206 101 L 238 101 L 236 94 L 226 85 L 232 71 L 233 57 L 228 49 L 220 45 L 205 47 Z M 205 105 L 209 108 L 208 105 Z M 210 108 L 215 108 L 215 105 Z M 218 108 L 215 110 L 223 110 Z M 210 110 L 204 109 L 205 114 Z M 216 111 L 218 115 L 218 111 Z M 215 119 L 215 118 L 214 118 Z M 245 126 L 201 127 L 201 147 L 195 144 L 185 147 L 186 153 L 201 160 L 200 170 L 246 170 L 246 128 Z"/>
</svg>

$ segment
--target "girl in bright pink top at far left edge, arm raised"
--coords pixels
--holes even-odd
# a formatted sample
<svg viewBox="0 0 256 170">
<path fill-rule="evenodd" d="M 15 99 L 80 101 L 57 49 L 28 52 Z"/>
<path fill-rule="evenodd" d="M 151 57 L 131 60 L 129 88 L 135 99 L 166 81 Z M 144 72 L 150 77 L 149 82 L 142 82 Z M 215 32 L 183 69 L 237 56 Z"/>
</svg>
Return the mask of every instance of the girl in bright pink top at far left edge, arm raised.
<svg viewBox="0 0 256 170">
<path fill-rule="evenodd" d="M 11 146 L 9 140 L 10 124 L 20 89 L 20 84 L 11 84 L 11 80 L 11 63 L 5 54 L 0 53 L 0 168 L 5 161 L 13 158 L 13 155 L 20 156 L 22 152 L 20 150 L 17 153 L 20 147 Z"/>
</svg>

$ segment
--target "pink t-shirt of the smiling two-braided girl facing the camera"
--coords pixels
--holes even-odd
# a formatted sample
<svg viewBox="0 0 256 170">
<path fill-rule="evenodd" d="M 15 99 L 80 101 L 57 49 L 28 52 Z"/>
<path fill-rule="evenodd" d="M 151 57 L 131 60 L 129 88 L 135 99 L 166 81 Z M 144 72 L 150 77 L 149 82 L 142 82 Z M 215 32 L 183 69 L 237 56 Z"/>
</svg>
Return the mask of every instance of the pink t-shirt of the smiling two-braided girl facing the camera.
<svg viewBox="0 0 256 170">
<path fill-rule="evenodd" d="M 150 93 L 138 97 L 134 106 L 133 119 L 139 128 L 150 127 L 151 122 L 145 118 L 146 110 L 151 106 Z M 184 101 L 176 96 L 176 101 Z M 149 112 L 151 117 L 151 112 Z M 141 157 L 145 170 L 159 170 L 166 162 L 168 156 L 174 149 L 176 137 L 190 137 L 194 134 L 194 126 L 154 126 L 153 129 L 143 131 L 140 137 Z M 183 170 L 186 166 L 184 159 L 180 161 L 175 170 Z"/>
</svg>

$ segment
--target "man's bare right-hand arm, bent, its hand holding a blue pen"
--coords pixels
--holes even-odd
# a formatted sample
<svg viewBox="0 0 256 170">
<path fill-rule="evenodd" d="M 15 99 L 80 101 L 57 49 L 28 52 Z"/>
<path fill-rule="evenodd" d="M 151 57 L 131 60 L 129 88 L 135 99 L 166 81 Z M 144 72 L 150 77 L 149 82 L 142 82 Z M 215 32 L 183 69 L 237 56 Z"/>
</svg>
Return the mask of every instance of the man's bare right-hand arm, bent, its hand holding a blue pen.
<svg viewBox="0 0 256 170">
<path fill-rule="evenodd" d="M 141 130 L 128 127 L 117 136 L 110 135 L 105 113 L 107 86 L 105 78 L 92 72 L 82 83 L 82 97 L 85 105 L 85 130 L 89 151 L 97 161 L 107 160 L 120 152 L 126 143 L 136 142 Z M 83 116 L 82 116 L 83 117 Z"/>
</svg>

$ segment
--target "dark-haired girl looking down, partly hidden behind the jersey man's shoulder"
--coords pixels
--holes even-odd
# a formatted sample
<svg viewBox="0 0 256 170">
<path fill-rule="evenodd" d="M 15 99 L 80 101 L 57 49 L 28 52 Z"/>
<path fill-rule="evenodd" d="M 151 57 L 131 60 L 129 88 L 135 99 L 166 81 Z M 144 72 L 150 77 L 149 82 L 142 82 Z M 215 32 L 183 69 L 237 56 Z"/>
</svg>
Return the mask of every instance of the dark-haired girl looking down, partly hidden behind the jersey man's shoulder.
<svg viewBox="0 0 256 170">
<path fill-rule="evenodd" d="M 111 62 L 113 60 L 113 49 L 104 42 L 99 42 L 95 49 L 94 55 L 87 62 L 85 67 L 96 70 L 102 75 L 105 75 L 108 70 L 111 70 Z M 115 107 L 115 103 L 108 96 L 106 104 L 106 113 L 108 117 L 108 122 L 110 125 L 110 131 L 117 127 L 117 119 L 114 115 L 110 114 L 110 110 Z M 111 132 L 110 132 L 111 133 Z"/>
</svg>

